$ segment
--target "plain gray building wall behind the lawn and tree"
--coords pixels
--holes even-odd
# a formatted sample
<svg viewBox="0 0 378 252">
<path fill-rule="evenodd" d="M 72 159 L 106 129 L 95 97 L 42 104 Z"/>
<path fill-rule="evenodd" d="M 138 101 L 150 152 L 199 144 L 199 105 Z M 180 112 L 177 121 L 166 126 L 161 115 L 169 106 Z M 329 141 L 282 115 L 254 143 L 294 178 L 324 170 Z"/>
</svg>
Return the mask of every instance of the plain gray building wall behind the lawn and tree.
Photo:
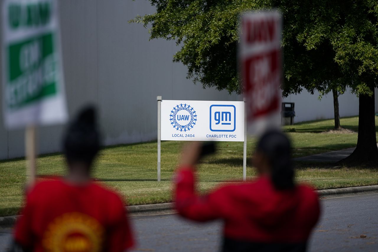
<svg viewBox="0 0 378 252">
<path fill-rule="evenodd" d="M 85 104 L 97 105 L 105 144 L 156 139 L 157 95 L 177 100 L 242 99 L 194 85 L 186 79 L 186 67 L 172 62 L 179 49 L 174 42 L 149 41 L 142 25 L 127 23 L 138 14 L 153 13 L 149 2 L 59 3 L 68 112 L 72 117 Z M 333 117 L 332 96 L 319 102 L 318 96 L 304 92 L 285 101 L 296 102 L 296 121 Z M 0 102 L 0 111 L 1 106 Z M 341 116 L 358 114 L 358 99 L 344 94 L 340 112 Z M 60 151 L 63 129 L 64 125 L 40 127 L 39 153 Z M 20 156 L 24 156 L 24 131 L 6 130 L 0 116 L 0 159 Z"/>
</svg>

